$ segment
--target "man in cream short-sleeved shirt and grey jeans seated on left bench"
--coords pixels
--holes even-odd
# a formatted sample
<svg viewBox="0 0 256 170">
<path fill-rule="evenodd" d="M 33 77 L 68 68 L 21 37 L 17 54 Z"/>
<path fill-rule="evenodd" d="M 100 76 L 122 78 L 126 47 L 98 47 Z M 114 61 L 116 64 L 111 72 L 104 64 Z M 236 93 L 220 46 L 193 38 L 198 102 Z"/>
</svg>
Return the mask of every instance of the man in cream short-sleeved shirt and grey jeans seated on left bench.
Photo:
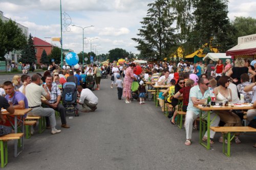
<svg viewBox="0 0 256 170">
<path fill-rule="evenodd" d="M 41 107 L 41 95 L 45 96 L 47 100 L 51 99 L 51 96 L 47 90 L 45 84 L 39 86 L 41 79 L 39 75 L 33 75 L 31 77 L 31 83 L 25 86 L 26 97 L 28 99 L 29 108 L 33 108 L 28 115 L 31 116 L 47 116 L 50 118 L 50 125 L 52 128 L 51 133 L 56 134 L 60 133 L 61 130 L 57 130 L 56 119 L 55 119 L 55 111 L 52 108 L 42 108 Z"/>
</svg>

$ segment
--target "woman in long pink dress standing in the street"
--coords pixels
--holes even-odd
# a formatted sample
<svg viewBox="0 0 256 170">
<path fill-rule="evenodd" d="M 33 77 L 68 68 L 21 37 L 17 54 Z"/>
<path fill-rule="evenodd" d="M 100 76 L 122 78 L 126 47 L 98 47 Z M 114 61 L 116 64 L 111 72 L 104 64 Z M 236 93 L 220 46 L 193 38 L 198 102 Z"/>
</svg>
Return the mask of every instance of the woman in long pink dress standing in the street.
<svg viewBox="0 0 256 170">
<path fill-rule="evenodd" d="M 131 103 L 131 86 L 133 80 L 137 80 L 134 77 L 133 68 L 136 67 L 134 63 L 130 64 L 130 67 L 126 68 L 125 70 L 125 76 L 123 79 L 123 97 L 126 98 L 125 103 Z"/>
</svg>

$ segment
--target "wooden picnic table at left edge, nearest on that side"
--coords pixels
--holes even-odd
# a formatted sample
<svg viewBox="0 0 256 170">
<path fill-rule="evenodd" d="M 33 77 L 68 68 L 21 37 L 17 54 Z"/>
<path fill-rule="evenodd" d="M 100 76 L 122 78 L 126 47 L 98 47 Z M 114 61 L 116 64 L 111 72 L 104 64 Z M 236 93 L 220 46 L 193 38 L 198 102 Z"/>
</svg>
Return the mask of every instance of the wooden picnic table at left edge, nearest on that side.
<svg viewBox="0 0 256 170">
<path fill-rule="evenodd" d="M 11 125 L 12 125 L 11 119 L 13 119 L 13 116 L 14 116 L 14 125 L 12 125 L 14 129 L 14 133 L 18 133 L 18 125 L 20 125 L 21 127 L 20 129 L 22 130 L 22 133 L 24 133 L 24 116 L 31 110 L 32 110 L 31 108 L 15 109 L 13 114 L 7 111 L 3 111 L 2 114 L 8 117 Z M 17 157 L 23 150 L 24 150 L 24 136 L 22 137 L 22 150 L 20 152 L 18 152 L 18 140 L 14 141 L 14 156 Z"/>
</svg>

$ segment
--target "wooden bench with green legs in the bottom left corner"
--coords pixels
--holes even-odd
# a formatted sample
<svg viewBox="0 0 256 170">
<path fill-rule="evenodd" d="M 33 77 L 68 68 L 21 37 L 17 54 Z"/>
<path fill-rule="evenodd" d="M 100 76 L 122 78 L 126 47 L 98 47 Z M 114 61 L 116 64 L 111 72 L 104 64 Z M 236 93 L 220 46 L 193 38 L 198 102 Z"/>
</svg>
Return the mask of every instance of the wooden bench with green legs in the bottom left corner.
<svg viewBox="0 0 256 170">
<path fill-rule="evenodd" d="M 20 139 L 22 138 L 23 133 L 10 133 L 0 137 L 0 152 L 1 152 L 1 167 L 5 167 L 8 163 L 8 149 L 7 142 L 8 140 Z"/>
</svg>

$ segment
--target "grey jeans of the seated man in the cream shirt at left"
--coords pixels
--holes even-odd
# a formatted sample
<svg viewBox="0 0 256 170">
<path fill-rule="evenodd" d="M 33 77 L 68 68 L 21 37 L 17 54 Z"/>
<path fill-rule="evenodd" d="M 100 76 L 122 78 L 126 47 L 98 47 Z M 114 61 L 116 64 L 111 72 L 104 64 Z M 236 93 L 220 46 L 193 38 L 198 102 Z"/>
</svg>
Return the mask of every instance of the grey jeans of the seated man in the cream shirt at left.
<svg viewBox="0 0 256 170">
<path fill-rule="evenodd" d="M 52 108 L 43 108 L 43 107 L 36 107 L 33 108 L 29 113 L 29 116 L 46 116 L 50 119 L 51 128 L 55 129 L 56 126 L 56 119 L 55 113 Z"/>
</svg>

